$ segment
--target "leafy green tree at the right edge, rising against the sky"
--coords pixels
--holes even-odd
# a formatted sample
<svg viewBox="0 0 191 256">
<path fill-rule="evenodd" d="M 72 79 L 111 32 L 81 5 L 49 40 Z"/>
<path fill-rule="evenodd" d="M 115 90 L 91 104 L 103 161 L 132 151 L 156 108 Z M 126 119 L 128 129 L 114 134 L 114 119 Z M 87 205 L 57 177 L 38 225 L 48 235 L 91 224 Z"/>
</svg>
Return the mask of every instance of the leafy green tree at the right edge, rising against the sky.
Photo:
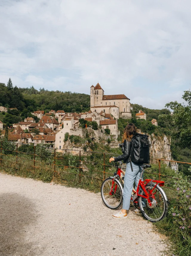
<svg viewBox="0 0 191 256">
<path fill-rule="evenodd" d="M 178 130 L 180 144 L 182 147 L 191 147 L 191 91 L 184 91 L 182 96 L 187 105 L 178 103 L 177 101 L 166 104 L 173 110 L 172 124 Z"/>
</svg>

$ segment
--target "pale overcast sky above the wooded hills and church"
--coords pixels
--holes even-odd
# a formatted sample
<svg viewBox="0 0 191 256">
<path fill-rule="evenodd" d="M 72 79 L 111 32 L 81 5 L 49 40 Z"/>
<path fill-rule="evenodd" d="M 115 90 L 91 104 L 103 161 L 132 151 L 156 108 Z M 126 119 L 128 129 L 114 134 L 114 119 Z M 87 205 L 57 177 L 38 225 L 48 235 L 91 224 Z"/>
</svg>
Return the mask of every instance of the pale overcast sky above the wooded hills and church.
<svg viewBox="0 0 191 256">
<path fill-rule="evenodd" d="M 191 1 L 0 1 L 0 82 L 125 94 L 161 109 L 191 88 Z"/>
</svg>

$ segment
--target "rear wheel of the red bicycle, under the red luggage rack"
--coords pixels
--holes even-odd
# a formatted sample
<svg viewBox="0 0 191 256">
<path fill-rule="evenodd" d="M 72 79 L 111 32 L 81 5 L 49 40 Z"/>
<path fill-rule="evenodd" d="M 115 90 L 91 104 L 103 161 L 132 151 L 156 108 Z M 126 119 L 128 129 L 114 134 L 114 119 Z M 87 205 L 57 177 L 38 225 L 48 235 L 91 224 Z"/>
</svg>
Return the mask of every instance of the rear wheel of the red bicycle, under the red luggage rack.
<svg viewBox="0 0 191 256">
<path fill-rule="evenodd" d="M 152 184 L 152 189 L 155 184 Z M 152 193 L 150 193 L 150 185 L 145 187 L 147 193 L 150 195 L 151 205 L 147 199 L 139 196 L 138 203 L 140 210 L 145 217 L 145 219 L 150 220 L 151 222 L 157 222 L 163 219 L 167 215 L 168 204 L 165 200 L 164 191 L 160 189 L 160 187 L 156 186 Z M 151 189 L 151 190 L 152 190 Z M 140 189 L 140 195 L 145 195 L 145 193 Z"/>
</svg>

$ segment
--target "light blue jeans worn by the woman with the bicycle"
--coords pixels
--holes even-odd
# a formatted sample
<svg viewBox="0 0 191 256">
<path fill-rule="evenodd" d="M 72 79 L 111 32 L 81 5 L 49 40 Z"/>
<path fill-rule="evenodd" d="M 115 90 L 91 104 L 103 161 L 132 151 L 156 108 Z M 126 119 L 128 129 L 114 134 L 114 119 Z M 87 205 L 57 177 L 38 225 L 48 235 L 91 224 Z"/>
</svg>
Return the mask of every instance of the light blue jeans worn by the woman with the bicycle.
<svg viewBox="0 0 191 256">
<path fill-rule="evenodd" d="M 123 209 L 129 210 L 131 194 L 133 191 L 133 184 L 135 182 L 135 190 L 137 189 L 138 182 L 141 177 L 142 168 L 140 165 L 136 165 L 132 162 L 133 171 L 131 170 L 130 163 L 127 163 L 125 177 L 124 177 L 124 189 L 123 189 Z"/>
</svg>

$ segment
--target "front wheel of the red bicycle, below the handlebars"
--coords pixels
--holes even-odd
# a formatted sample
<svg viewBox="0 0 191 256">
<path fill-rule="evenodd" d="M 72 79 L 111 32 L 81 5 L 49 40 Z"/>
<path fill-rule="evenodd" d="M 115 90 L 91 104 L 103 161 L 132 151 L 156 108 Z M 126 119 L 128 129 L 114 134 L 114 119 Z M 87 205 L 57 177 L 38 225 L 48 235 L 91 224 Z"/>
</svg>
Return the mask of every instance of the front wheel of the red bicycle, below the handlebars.
<svg viewBox="0 0 191 256">
<path fill-rule="evenodd" d="M 122 185 L 117 179 L 115 179 L 112 195 L 110 195 L 112 182 L 112 178 L 107 178 L 103 181 L 101 185 L 101 198 L 108 208 L 116 210 L 121 206 L 123 201 Z"/>
</svg>

